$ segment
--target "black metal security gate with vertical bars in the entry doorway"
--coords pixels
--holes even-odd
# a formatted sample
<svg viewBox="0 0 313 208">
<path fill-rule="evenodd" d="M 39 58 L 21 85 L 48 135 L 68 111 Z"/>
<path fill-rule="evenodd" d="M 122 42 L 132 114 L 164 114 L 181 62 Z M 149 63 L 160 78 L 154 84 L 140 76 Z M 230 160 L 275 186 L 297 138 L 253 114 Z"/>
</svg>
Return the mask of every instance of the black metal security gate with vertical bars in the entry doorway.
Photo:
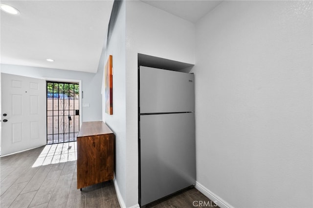
<svg viewBox="0 0 313 208">
<path fill-rule="evenodd" d="M 47 144 L 73 142 L 79 132 L 79 83 L 47 81 Z"/>
</svg>

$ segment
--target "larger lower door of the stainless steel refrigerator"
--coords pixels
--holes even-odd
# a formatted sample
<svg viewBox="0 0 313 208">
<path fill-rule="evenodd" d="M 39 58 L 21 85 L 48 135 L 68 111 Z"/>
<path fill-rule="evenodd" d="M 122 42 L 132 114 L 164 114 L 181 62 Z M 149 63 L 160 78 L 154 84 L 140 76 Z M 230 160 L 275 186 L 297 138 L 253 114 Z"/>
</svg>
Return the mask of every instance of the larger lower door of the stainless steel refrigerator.
<svg viewBox="0 0 313 208">
<path fill-rule="evenodd" d="M 141 206 L 196 183 L 194 113 L 140 116 Z"/>
</svg>

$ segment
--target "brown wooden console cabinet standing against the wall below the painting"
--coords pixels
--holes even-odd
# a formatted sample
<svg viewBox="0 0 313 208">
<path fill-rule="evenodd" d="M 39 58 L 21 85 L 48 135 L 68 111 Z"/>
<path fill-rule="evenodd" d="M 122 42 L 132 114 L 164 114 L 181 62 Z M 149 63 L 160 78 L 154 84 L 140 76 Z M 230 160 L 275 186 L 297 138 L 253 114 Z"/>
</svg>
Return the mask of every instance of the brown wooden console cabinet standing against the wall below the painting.
<svg viewBox="0 0 313 208">
<path fill-rule="evenodd" d="M 77 188 L 113 179 L 114 134 L 102 121 L 83 122 L 77 135 Z"/>
</svg>

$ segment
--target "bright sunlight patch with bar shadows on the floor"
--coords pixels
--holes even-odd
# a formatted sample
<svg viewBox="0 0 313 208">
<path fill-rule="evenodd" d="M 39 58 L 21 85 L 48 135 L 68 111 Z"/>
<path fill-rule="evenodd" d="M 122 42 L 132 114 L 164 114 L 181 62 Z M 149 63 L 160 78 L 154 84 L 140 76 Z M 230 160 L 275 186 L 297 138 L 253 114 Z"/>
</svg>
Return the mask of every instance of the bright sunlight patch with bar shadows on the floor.
<svg viewBox="0 0 313 208">
<path fill-rule="evenodd" d="M 77 142 L 46 145 L 32 167 L 77 160 Z"/>
</svg>

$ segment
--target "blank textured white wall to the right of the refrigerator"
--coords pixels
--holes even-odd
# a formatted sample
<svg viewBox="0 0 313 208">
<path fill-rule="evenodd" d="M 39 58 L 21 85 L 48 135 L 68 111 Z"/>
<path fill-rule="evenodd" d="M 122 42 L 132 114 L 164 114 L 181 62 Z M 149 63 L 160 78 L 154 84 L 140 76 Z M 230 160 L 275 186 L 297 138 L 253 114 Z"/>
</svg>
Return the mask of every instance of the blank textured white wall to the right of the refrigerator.
<svg viewBox="0 0 313 208">
<path fill-rule="evenodd" d="M 312 1 L 224 1 L 196 25 L 197 181 L 233 207 L 313 207 L 312 25 Z"/>
</svg>

